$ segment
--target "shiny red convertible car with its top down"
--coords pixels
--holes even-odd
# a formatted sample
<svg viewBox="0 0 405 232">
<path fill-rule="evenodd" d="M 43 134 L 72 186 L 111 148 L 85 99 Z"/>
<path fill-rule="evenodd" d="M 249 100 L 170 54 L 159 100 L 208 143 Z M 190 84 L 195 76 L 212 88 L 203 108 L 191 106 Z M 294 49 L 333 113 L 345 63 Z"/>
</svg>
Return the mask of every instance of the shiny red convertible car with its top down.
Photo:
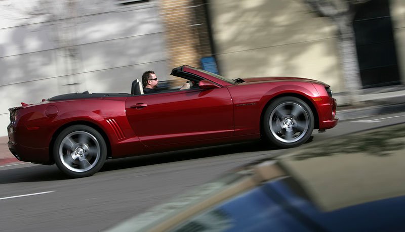
<svg viewBox="0 0 405 232">
<path fill-rule="evenodd" d="M 108 158 L 259 140 L 305 143 L 338 123 L 329 85 L 304 78 L 227 79 L 190 66 L 173 76 L 194 83 L 143 94 L 65 94 L 9 109 L 8 146 L 21 161 L 54 164 L 71 177 L 96 173 Z"/>
</svg>

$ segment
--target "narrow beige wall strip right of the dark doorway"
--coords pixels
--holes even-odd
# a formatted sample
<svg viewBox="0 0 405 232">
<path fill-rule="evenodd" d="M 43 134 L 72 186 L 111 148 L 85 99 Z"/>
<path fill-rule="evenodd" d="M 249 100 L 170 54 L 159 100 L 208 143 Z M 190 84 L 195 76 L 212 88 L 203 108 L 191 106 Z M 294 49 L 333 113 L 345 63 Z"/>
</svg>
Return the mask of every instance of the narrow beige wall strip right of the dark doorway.
<svg viewBox="0 0 405 232">
<path fill-rule="evenodd" d="M 391 0 L 390 8 L 399 75 L 402 84 L 405 84 L 405 1 Z"/>
</svg>

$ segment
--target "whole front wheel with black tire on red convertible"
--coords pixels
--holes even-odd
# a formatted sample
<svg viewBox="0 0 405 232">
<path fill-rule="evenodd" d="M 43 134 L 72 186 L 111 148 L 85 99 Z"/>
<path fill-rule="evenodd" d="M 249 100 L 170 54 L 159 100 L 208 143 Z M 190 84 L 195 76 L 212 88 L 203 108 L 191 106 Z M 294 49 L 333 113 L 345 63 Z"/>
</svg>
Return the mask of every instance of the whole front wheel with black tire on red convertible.
<svg viewBox="0 0 405 232">
<path fill-rule="evenodd" d="M 293 148 L 305 143 L 312 134 L 314 117 L 309 106 L 296 97 L 274 100 L 263 117 L 267 140 L 280 148 Z"/>
</svg>

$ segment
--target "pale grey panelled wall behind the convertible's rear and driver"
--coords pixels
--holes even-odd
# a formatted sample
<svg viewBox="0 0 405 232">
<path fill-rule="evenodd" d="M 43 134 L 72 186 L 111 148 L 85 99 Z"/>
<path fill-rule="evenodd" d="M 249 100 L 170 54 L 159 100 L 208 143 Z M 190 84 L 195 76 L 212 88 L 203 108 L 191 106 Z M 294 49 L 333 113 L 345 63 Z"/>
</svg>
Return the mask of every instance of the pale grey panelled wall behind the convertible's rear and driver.
<svg viewBox="0 0 405 232">
<path fill-rule="evenodd" d="M 0 4 L 0 136 L 7 135 L 8 108 L 20 102 L 74 91 L 130 92 L 131 82 L 146 70 L 161 80 L 168 76 L 157 1 L 100 3 L 94 9 L 78 6 L 78 17 L 67 20 L 24 15 L 32 1 L 25 8 Z M 60 38 L 76 45 L 76 66 Z"/>
</svg>

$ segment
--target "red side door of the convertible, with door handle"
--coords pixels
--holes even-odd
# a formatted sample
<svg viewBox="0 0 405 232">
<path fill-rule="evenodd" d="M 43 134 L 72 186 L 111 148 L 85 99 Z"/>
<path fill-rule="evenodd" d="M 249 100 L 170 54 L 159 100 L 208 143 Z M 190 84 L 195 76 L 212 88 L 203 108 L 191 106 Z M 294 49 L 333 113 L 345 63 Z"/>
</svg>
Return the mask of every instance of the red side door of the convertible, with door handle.
<svg viewBox="0 0 405 232">
<path fill-rule="evenodd" d="M 225 87 L 129 97 L 126 114 L 146 146 L 233 136 L 232 99 Z"/>
</svg>

